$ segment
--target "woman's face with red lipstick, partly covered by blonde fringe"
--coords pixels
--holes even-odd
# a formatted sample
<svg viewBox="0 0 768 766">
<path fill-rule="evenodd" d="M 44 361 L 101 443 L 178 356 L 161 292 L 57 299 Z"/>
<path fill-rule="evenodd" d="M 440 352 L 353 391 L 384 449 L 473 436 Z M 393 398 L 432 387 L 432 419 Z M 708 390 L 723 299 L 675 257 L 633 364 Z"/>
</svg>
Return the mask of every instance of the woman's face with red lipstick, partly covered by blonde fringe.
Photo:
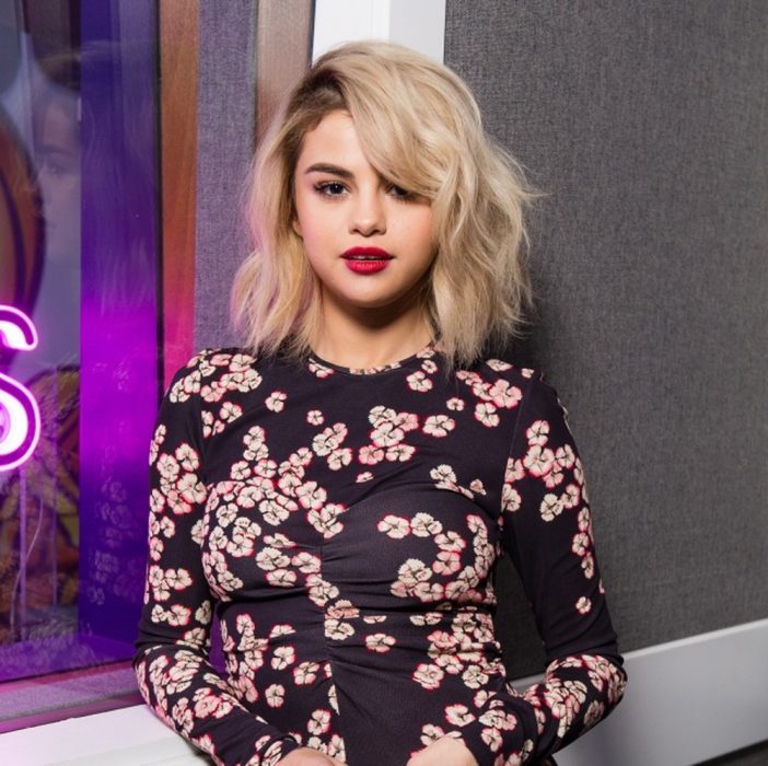
<svg viewBox="0 0 768 766">
<path fill-rule="evenodd" d="M 432 208 L 382 177 L 346 112 L 304 136 L 294 172 L 294 231 L 329 312 L 386 321 L 412 311 L 434 259 Z"/>
</svg>

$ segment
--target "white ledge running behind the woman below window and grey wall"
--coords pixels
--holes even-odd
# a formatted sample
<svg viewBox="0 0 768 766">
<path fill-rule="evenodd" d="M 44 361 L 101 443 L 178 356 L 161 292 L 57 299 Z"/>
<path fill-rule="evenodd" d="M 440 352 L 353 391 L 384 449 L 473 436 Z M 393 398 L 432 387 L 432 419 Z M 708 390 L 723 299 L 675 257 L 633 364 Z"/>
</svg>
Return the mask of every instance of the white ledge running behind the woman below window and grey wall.
<svg viewBox="0 0 768 766">
<path fill-rule="evenodd" d="M 625 700 L 605 723 L 558 754 L 558 764 L 690 766 L 766 740 L 766 647 L 768 619 L 763 619 L 629 652 Z M 200 766 L 208 761 L 138 706 L 2 734 L 0 763 Z"/>
</svg>

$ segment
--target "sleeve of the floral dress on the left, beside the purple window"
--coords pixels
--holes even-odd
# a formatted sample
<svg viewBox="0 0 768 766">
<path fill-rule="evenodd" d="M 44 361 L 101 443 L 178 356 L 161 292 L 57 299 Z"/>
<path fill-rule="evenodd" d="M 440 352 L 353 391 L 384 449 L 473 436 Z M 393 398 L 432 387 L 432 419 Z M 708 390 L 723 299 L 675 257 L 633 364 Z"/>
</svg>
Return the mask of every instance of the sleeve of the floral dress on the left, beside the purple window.
<svg viewBox="0 0 768 766">
<path fill-rule="evenodd" d="M 135 666 L 147 704 L 217 764 L 270 766 L 299 743 L 249 712 L 209 663 L 214 597 L 202 568 L 203 429 L 199 365 L 179 371 L 150 453 L 149 564 Z"/>
</svg>

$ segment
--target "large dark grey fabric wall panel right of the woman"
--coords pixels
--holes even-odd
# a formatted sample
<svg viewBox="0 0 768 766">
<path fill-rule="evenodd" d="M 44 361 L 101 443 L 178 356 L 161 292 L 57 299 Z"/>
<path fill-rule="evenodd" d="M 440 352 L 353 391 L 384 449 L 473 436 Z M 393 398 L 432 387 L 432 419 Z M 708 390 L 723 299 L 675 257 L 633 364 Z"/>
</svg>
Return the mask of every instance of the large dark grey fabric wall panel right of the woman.
<svg viewBox="0 0 768 766">
<path fill-rule="evenodd" d="M 621 648 L 768 616 L 768 3 L 449 0 L 445 61 L 548 193 L 512 353 L 571 411 Z"/>
</svg>

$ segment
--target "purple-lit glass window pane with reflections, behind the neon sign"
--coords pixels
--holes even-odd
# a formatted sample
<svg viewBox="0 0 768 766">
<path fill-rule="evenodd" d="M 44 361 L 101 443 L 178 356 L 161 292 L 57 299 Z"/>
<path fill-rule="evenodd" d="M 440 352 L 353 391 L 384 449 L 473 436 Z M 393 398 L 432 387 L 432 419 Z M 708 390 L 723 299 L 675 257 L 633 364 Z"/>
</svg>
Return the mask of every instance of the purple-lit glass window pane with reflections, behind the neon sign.
<svg viewBox="0 0 768 766">
<path fill-rule="evenodd" d="M 132 654 L 160 385 L 155 38 L 150 0 L 0 0 L 0 305 L 38 336 L 14 344 L 23 318 L 0 309 L 11 685 Z M 40 438 L 16 465 L 24 390 Z"/>
</svg>

